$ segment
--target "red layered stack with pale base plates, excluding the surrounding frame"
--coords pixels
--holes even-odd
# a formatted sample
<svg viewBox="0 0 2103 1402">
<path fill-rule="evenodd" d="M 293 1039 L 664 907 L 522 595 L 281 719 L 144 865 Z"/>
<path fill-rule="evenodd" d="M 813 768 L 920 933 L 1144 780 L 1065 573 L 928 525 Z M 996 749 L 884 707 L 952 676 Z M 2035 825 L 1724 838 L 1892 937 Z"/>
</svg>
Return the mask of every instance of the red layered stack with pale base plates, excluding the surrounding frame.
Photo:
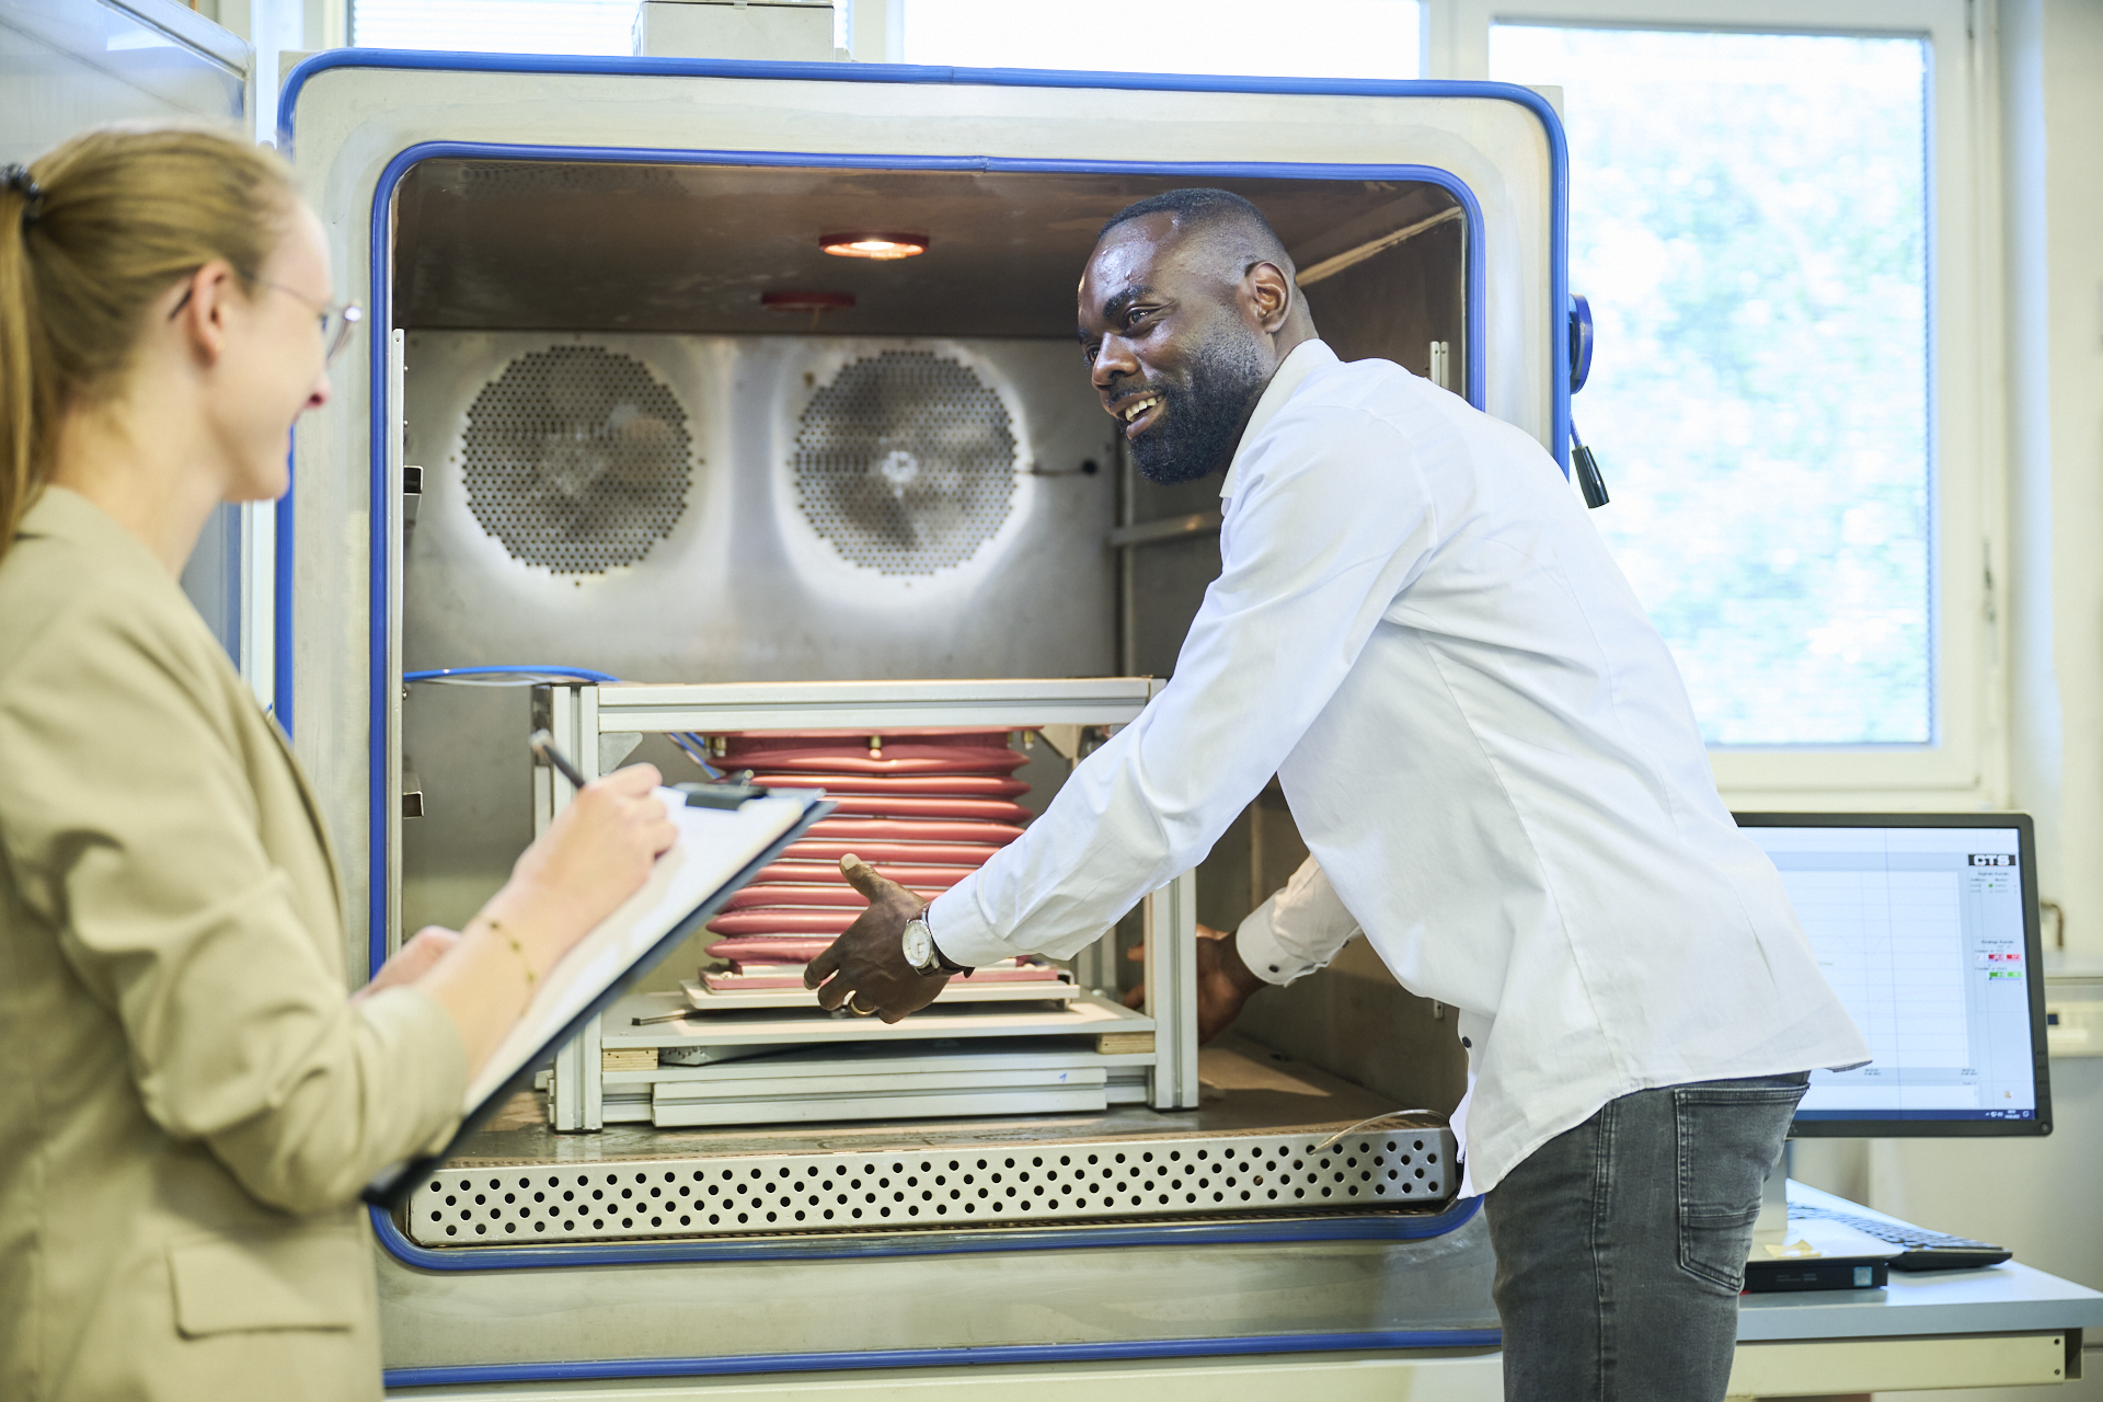
<svg viewBox="0 0 2103 1402">
<path fill-rule="evenodd" d="M 683 1001 L 644 994 L 604 1024 L 606 1122 L 660 1129 L 1091 1114 L 1142 1104 L 1155 1024 L 1037 958 L 951 980 L 898 1024 L 826 1013 L 803 967 L 866 908 L 854 853 L 934 900 L 1022 837 L 1028 763 L 1007 731 L 734 736 L 723 763 L 839 807 L 709 923 Z M 719 963 L 715 963 L 719 961 Z M 728 965 L 728 967 L 721 967 Z M 681 1015 L 683 1013 L 683 1015 Z"/>
</svg>

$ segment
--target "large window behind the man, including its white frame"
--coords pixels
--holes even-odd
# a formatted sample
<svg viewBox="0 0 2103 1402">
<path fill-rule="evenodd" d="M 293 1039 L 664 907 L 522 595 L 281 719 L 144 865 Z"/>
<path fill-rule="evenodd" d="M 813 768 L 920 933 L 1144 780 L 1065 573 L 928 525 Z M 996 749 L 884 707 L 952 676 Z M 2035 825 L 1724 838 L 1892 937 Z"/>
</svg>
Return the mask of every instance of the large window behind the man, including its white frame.
<svg viewBox="0 0 2103 1402">
<path fill-rule="evenodd" d="M 2000 223 L 1964 0 L 1430 0 L 1558 86 L 1592 515 L 1739 807 L 2004 799 Z"/>
</svg>

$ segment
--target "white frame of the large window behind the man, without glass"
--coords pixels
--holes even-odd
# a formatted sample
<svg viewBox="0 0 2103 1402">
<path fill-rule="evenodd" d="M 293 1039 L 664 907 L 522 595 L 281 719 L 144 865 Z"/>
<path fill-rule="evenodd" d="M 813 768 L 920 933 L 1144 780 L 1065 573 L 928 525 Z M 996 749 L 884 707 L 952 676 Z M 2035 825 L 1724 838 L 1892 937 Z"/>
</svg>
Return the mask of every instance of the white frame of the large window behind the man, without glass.
<svg viewBox="0 0 2103 1402">
<path fill-rule="evenodd" d="M 2006 559 L 1998 162 L 1989 38 L 1968 0 L 1424 0 L 1426 78 L 1489 78 L 1495 23 L 1907 36 L 1928 44 L 1928 525 L 1933 740 L 1712 746 L 1737 807 L 1998 807 L 2006 801 Z M 1573 288 L 1579 290 L 1581 288 Z M 1611 355 L 1611 347 L 1607 347 Z M 1611 473 L 1611 444 L 1600 446 Z M 1609 507 L 1611 511 L 1611 507 Z"/>
</svg>

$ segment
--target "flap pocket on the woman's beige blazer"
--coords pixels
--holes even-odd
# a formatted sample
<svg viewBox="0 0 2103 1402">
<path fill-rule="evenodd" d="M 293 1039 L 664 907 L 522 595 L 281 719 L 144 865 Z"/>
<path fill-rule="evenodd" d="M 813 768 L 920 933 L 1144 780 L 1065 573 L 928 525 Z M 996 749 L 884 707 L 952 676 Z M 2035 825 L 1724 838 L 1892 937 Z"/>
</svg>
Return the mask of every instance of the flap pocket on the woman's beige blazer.
<svg viewBox="0 0 2103 1402">
<path fill-rule="evenodd" d="M 269 1228 L 168 1242 L 185 1339 L 250 1328 L 355 1328 L 372 1261 L 355 1228 Z"/>
</svg>

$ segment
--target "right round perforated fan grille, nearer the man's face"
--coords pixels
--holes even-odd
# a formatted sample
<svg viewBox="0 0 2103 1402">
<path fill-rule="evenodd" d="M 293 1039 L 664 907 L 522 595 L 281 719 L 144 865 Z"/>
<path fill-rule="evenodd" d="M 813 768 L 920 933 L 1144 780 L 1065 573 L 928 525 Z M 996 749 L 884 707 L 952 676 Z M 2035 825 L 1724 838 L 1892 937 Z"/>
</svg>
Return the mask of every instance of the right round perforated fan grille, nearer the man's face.
<svg viewBox="0 0 2103 1402">
<path fill-rule="evenodd" d="M 843 559 L 936 574 L 972 559 L 1007 521 L 1016 433 L 967 366 L 883 351 L 812 395 L 789 467 L 803 519 Z"/>
</svg>

